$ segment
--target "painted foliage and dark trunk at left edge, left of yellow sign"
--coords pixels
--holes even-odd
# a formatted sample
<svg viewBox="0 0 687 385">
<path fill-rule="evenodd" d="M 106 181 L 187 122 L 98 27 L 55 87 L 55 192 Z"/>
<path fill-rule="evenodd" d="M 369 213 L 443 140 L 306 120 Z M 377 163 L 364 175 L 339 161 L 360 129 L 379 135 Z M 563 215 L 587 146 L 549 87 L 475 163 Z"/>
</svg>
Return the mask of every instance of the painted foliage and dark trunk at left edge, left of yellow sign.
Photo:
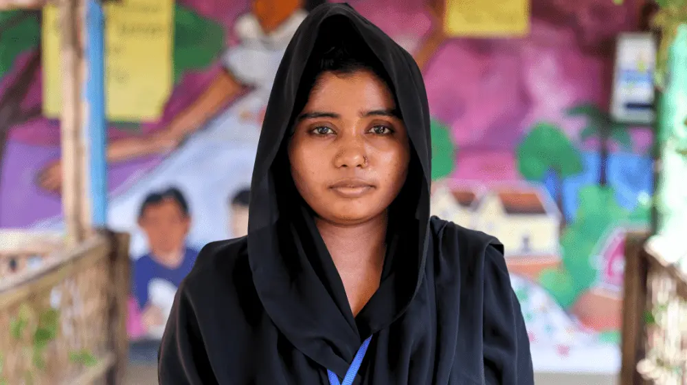
<svg viewBox="0 0 687 385">
<path fill-rule="evenodd" d="M 41 52 L 38 50 L 41 36 L 40 17 L 40 13 L 36 11 L 0 12 L 0 79 L 14 75 L 0 95 L 0 181 L 2 159 L 10 129 L 41 115 L 40 105 L 28 109 L 21 105 L 41 67 Z M 16 59 L 29 51 L 26 63 L 12 74 Z"/>
</svg>

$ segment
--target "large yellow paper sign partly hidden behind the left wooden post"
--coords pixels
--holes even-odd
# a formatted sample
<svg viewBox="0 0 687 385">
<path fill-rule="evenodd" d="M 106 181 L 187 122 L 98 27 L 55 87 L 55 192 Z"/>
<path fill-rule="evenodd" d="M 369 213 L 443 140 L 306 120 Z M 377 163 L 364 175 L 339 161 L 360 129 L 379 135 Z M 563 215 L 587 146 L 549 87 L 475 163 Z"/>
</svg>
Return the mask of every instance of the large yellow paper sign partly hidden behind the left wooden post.
<svg viewBox="0 0 687 385">
<path fill-rule="evenodd" d="M 106 113 L 114 121 L 159 119 L 172 91 L 174 0 L 104 3 Z M 43 113 L 60 114 L 57 9 L 43 8 Z"/>
</svg>

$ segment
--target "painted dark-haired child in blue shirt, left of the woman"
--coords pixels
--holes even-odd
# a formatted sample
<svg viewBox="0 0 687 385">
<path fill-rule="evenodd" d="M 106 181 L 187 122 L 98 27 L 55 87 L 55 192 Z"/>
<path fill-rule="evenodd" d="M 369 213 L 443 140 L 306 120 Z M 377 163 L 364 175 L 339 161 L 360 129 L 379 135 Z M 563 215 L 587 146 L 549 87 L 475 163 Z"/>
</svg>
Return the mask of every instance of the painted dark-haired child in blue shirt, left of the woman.
<svg viewBox="0 0 687 385">
<path fill-rule="evenodd" d="M 185 243 L 190 223 L 188 203 L 177 188 L 153 192 L 141 206 L 139 225 L 150 251 L 133 263 L 133 296 L 148 336 L 164 330 L 177 287 L 198 256 Z"/>
</svg>

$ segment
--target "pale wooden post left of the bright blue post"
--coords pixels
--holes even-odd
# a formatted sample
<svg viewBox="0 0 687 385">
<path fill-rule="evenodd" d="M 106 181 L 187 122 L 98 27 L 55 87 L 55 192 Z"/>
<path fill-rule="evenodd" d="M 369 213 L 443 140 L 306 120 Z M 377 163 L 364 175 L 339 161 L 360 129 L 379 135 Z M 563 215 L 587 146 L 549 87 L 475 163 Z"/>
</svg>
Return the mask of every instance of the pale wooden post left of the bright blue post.
<svg viewBox="0 0 687 385">
<path fill-rule="evenodd" d="M 83 131 L 82 0 L 59 0 L 60 59 L 62 64 L 62 203 L 67 247 L 85 239 L 89 215 L 85 205 L 85 135 Z"/>
</svg>

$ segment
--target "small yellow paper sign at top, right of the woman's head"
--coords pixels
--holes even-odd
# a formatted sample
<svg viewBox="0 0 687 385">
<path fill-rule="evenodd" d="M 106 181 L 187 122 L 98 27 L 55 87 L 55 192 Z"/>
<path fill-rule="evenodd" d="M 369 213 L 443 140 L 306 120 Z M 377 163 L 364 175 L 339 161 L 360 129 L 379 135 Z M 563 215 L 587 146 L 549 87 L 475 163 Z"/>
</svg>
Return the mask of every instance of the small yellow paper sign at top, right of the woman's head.
<svg viewBox="0 0 687 385">
<path fill-rule="evenodd" d="M 530 0 L 446 0 L 449 36 L 523 36 L 530 31 Z"/>
</svg>

